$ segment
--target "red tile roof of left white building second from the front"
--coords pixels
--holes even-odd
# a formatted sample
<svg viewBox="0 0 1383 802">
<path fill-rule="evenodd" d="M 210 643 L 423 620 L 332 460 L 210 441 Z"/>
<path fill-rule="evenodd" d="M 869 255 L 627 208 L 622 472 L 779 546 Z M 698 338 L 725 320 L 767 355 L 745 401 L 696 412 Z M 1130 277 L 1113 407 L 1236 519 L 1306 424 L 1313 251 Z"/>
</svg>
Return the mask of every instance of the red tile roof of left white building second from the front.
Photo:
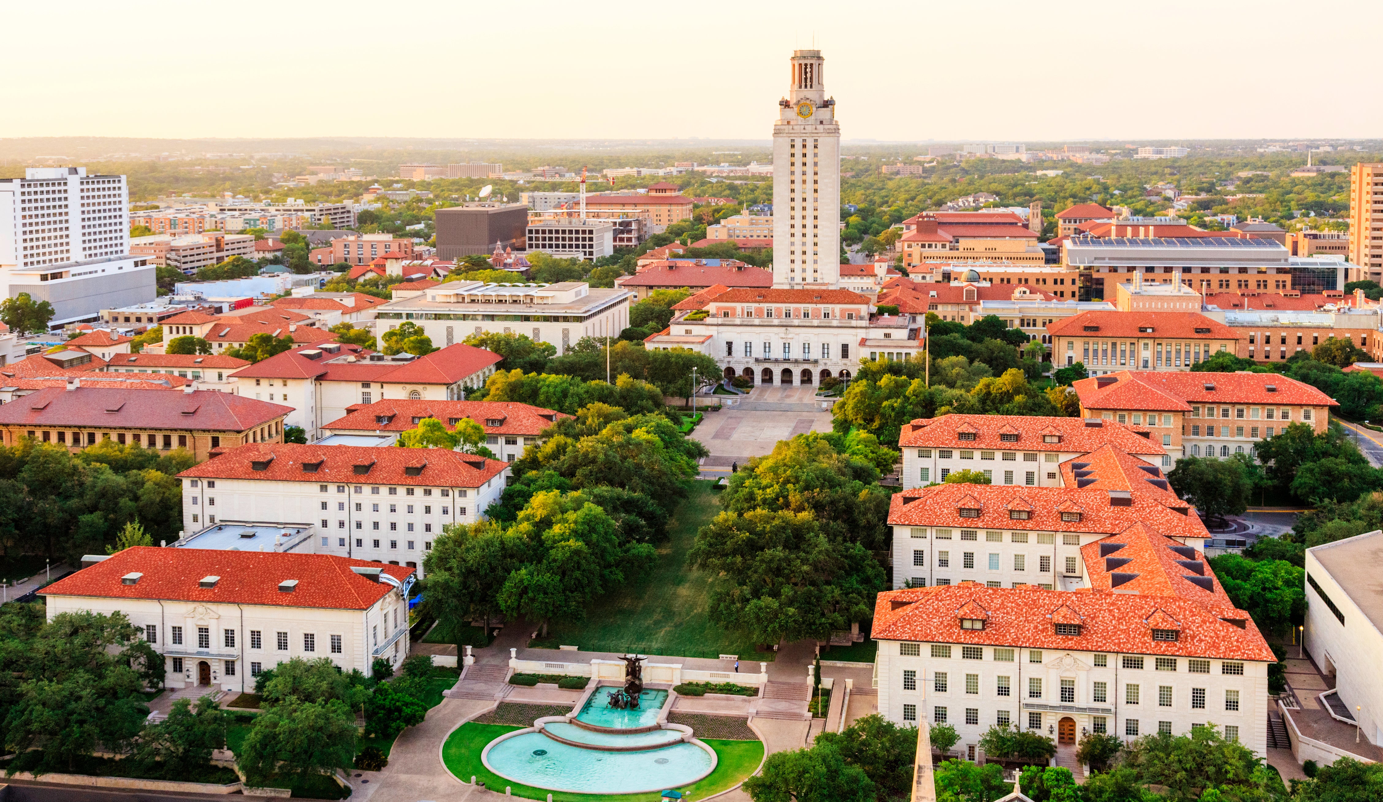
<svg viewBox="0 0 1383 802">
<path fill-rule="evenodd" d="M 256 465 L 264 470 L 254 470 Z M 317 470 L 308 470 L 313 466 Z M 448 448 L 249 442 L 189 467 L 178 477 L 474 488 L 506 467 L 508 462 Z"/>
</svg>

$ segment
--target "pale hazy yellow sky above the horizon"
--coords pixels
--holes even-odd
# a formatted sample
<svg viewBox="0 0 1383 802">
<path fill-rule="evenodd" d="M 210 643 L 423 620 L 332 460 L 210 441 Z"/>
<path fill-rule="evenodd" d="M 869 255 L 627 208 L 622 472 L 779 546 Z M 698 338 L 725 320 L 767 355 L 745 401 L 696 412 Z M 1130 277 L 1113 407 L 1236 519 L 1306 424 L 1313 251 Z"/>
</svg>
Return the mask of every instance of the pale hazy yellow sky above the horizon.
<svg viewBox="0 0 1383 802">
<path fill-rule="evenodd" d="M 794 47 L 845 138 L 1380 137 L 1383 3 L 6 8 L 0 137 L 766 138 Z"/>
</svg>

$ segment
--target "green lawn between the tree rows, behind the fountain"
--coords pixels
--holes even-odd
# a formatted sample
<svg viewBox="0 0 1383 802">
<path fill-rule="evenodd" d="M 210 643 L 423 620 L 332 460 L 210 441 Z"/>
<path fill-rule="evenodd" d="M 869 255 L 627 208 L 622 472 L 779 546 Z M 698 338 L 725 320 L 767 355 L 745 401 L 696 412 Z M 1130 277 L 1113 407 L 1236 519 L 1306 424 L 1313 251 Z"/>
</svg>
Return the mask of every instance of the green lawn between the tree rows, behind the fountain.
<svg viewBox="0 0 1383 802">
<path fill-rule="evenodd" d="M 772 661 L 773 653 L 754 650 L 748 637 L 726 632 L 707 613 L 709 582 L 686 568 L 696 532 L 719 512 L 709 481 L 697 481 L 690 498 L 674 513 L 671 542 L 658 548 L 658 561 L 642 582 L 611 593 L 586 611 L 582 624 L 560 624 L 541 644 L 578 646 L 588 651 L 642 651 L 674 657 L 737 654 L 750 664 Z"/>
</svg>

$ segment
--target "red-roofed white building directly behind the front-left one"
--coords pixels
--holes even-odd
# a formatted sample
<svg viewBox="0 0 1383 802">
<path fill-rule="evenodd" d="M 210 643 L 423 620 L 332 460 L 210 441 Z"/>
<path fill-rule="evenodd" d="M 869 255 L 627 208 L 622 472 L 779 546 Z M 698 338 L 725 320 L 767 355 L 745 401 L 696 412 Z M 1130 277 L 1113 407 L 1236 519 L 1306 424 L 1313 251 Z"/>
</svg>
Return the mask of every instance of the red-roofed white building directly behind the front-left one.
<svg viewBox="0 0 1383 802">
<path fill-rule="evenodd" d="M 509 463 L 445 448 L 256 442 L 178 474 L 183 528 L 311 528 L 311 550 L 419 570 L 447 524 L 499 501 Z"/>
</svg>

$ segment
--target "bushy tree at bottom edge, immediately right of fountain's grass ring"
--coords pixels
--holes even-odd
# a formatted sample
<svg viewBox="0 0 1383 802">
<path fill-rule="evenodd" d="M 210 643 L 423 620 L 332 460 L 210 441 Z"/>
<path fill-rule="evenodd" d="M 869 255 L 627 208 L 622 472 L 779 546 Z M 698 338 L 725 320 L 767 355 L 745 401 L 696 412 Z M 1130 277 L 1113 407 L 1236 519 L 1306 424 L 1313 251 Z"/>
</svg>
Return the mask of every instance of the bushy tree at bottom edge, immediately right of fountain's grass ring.
<svg viewBox="0 0 1383 802">
<path fill-rule="evenodd" d="M 830 747 L 773 752 L 744 781 L 754 802 L 871 802 L 877 792 L 863 769 Z"/>
</svg>

